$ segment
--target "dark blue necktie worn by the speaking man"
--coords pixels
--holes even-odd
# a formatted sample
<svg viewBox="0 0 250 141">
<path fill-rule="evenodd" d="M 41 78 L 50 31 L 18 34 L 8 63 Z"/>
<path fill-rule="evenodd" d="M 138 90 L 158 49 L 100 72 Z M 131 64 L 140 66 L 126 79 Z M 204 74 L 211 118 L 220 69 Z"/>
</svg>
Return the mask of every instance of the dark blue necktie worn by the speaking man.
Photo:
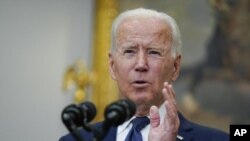
<svg viewBox="0 0 250 141">
<path fill-rule="evenodd" d="M 149 124 L 148 117 L 136 117 L 131 121 L 133 124 L 125 141 L 142 141 L 141 129 Z"/>
</svg>

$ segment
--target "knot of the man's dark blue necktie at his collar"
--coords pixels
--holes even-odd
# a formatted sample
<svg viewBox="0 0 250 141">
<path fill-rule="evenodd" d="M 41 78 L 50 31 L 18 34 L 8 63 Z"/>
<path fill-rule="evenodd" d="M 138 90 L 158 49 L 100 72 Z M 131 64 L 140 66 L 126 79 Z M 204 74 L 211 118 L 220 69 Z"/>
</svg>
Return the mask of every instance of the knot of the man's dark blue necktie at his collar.
<svg viewBox="0 0 250 141">
<path fill-rule="evenodd" d="M 131 123 L 133 124 L 132 128 L 137 131 L 141 131 L 142 128 L 149 124 L 149 119 L 148 117 L 136 117 L 131 121 Z"/>
</svg>

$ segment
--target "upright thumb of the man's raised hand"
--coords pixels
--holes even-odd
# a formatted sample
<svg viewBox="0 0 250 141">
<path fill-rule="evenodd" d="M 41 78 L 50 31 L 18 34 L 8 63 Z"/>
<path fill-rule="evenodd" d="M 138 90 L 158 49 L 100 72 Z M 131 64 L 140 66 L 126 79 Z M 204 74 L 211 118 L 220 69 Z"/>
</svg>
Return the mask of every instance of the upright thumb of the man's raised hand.
<svg viewBox="0 0 250 141">
<path fill-rule="evenodd" d="M 156 128 L 160 125 L 159 110 L 156 106 L 151 106 L 149 111 L 151 128 Z"/>
</svg>

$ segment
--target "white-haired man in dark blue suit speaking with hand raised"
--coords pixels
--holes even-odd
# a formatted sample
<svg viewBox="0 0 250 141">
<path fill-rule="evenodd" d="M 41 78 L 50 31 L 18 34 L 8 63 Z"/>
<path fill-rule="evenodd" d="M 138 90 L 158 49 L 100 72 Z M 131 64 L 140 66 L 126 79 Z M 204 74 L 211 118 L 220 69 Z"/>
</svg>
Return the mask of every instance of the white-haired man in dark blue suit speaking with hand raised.
<svg viewBox="0 0 250 141">
<path fill-rule="evenodd" d="M 112 25 L 109 68 L 121 99 L 135 103 L 136 112 L 103 140 L 228 141 L 226 133 L 192 123 L 178 111 L 173 84 L 180 64 L 180 32 L 172 17 L 143 8 L 121 13 Z M 81 135 L 86 141 L 94 138 L 85 130 Z M 60 138 L 73 140 L 70 134 Z"/>
</svg>

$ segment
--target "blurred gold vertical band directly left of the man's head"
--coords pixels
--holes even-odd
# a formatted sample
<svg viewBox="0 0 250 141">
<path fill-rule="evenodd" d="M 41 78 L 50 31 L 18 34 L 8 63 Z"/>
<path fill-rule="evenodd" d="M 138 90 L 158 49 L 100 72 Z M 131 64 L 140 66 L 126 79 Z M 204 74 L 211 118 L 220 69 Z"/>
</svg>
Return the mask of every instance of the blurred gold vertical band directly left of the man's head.
<svg viewBox="0 0 250 141">
<path fill-rule="evenodd" d="M 111 45 L 111 25 L 117 15 L 117 0 L 96 0 L 93 49 L 93 71 L 96 81 L 92 89 L 92 100 L 97 107 L 95 121 L 103 119 L 105 107 L 118 99 L 114 81 L 108 67 L 108 52 Z"/>
</svg>

